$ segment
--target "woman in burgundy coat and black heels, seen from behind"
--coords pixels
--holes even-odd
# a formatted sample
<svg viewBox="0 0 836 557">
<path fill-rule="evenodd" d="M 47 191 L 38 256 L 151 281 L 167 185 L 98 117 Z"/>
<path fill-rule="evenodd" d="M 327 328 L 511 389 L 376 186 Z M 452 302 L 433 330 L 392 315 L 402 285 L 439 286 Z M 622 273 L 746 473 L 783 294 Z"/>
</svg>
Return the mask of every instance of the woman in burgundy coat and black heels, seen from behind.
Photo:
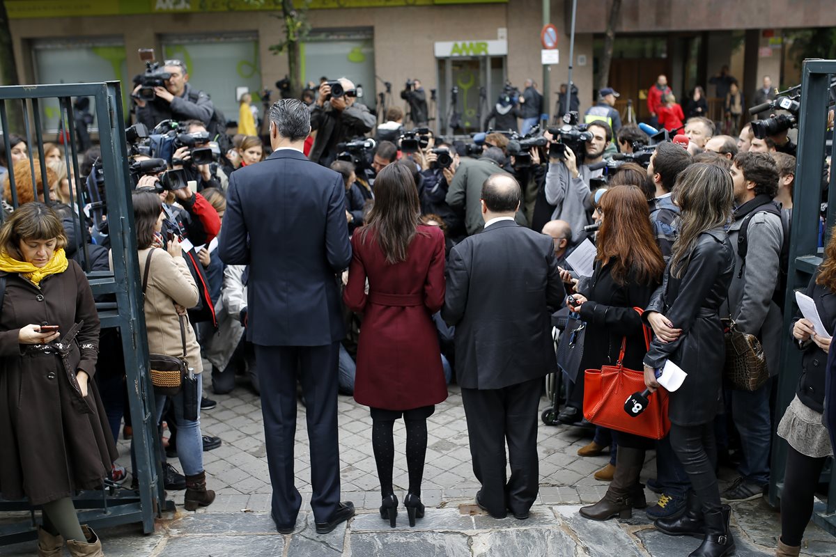
<svg viewBox="0 0 836 557">
<path fill-rule="evenodd" d="M 421 224 L 415 180 L 406 165 L 385 167 L 375 180 L 368 224 L 354 233 L 354 256 L 343 299 L 364 314 L 357 349 L 354 400 L 370 407 L 372 447 L 383 504 L 380 516 L 395 527 L 392 427 L 403 416 L 410 487 L 404 506 L 415 526 L 424 516 L 421 476 L 426 418 L 447 397 L 432 314 L 444 302 L 444 234 Z M 366 293 L 366 279 L 369 291 Z"/>
</svg>

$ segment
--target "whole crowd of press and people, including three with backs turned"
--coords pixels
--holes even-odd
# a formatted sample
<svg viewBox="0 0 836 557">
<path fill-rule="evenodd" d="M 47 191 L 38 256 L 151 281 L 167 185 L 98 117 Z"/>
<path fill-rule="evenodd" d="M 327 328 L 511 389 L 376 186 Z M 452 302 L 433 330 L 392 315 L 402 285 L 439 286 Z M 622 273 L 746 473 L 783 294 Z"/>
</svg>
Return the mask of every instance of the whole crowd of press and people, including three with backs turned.
<svg viewBox="0 0 836 557">
<path fill-rule="evenodd" d="M 836 328 L 825 294 L 836 287 L 829 257 L 836 241 L 808 286 L 827 330 L 799 316 L 792 332 L 783 331 L 796 166 L 786 137 L 754 138 L 748 124 L 737 138 L 716 134 L 701 93 L 689 104 L 697 115 L 666 114 L 673 101 L 665 99 L 664 76 L 654 114 L 665 123 L 685 119 L 684 138 L 652 147 L 645 131 L 621 124 L 611 88 L 599 91 L 601 102 L 577 128 L 584 132 L 579 143 L 568 143 L 568 132 L 542 131 L 540 144 L 522 148 L 497 132 L 481 144 L 438 137 L 417 125 L 424 123 L 421 99 L 409 94 L 416 127 L 408 129 L 404 111 L 392 107 L 375 129 L 375 115 L 356 102 L 346 78 L 324 80 L 306 99 L 274 103 L 263 126 L 245 95 L 239 131 L 266 128 L 268 135 L 227 136 L 217 133 L 212 101 L 191 89 L 185 66 L 168 61 L 166 71 L 171 79 L 155 99 L 135 97 L 135 118 L 149 129 L 177 121 L 193 145 L 172 149 L 166 168 L 135 176 L 132 203 L 150 352 L 186 362 L 181 390 L 155 394 L 159 426 L 169 430 L 163 479 L 166 489 L 186 489 L 186 509 L 214 499 L 202 453 L 221 441 L 201 432 L 201 411 L 216 404 L 204 387 L 216 395 L 248 387 L 262 399 L 278 531 L 293 531 L 301 504 L 293 474 L 297 403 L 307 408 L 316 530 L 328 533 L 349 519 L 353 505 L 339 500 L 342 392 L 370 407 L 380 515 L 393 526 L 393 424 L 404 419 L 403 505 L 415 525 L 425 514 L 426 420 L 455 381 L 482 485 L 477 504 L 496 518 L 528 519 L 538 494 L 543 377 L 563 373 L 568 387 L 556 393 L 564 399 L 558 422 L 594 431 L 580 456 L 610 455 L 595 474 L 609 481 L 606 495 L 580 514 L 606 520 L 646 508 L 661 532 L 702 539 L 691 555 L 731 554 L 728 504 L 764 494 L 777 428 L 790 445 L 785 486 L 792 486 L 781 499 L 777 555 L 798 555 L 815 480 L 833 453 L 823 409 Z M 533 81 L 526 85 L 523 106 L 538 103 Z M 737 109 L 742 99 L 732 85 Z M 408 89 L 421 90 L 417 80 Z M 512 114 L 504 108 L 497 105 L 491 118 Z M 538 113 L 525 114 L 531 129 Z M 0 492 L 43 504 L 42 554 L 64 542 L 73 554 L 103 554 L 69 499 L 103 478 L 127 477 L 114 463 L 120 432 L 130 437 L 124 369 L 114 371 L 120 342 L 104 342 L 110 333 L 99 330 L 82 270 L 109 268 L 107 239 L 89 235 L 98 243 L 79 250 L 79 225 L 96 226 L 80 223 L 73 209 L 99 154 L 95 147 L 85 154 L 76 184 L 59 145 L 44 145 L 39 160 L 24 139 L 4 139 L 12 158 L 5 160 L 0 145 L 7 174 L 0 394 L 12 403 L 0 419 L 0 442 L 13 450 L 0 456 Z M 131 163 L 155 158 L 154 147 L 144 147 L 135 145 Z M 191 160 L 192 149 L 206 147 L 215 152 L 212 162 Z M 638 157 L 614 164 L 622 162 L 614 154 L 640 152 L 649 154 L 646 166 Z M 186 184 L 161 185 L 171 170 L 181 170 Z M 594 255 L 584 274 L 573 252 L 589 243 Z M 583 355 L 571 362 L 555 353 L 552 322 L 561 315 L 585 324 Z M 721 318 L 762 342 L 769 377 L 755 389 L 724 377 Z M 774 424 L 782 410 L 773 396 L 778 357 L 789 334 L 804 351 L 803 374 L 797 397 Z M 643 369 L 649 392 L 664 388 L 666 362 L 687 372 L 666 395 L 670 433 L 651 439 L 584 418 L 584 370 L 615 362 Z M 22 406 L 23 389 L 37 396 Z M 71 443 L 33 434 L 77 421 L 84 434 Z M 56 458 L 36 456 L 44 443 Z M 657 470 L 647 484 L 659 494 L 650 506 L 640 483 L 649 450 Z M 179 458 L 185 475 L 166 456 Z M 720 465 L 739 475 L 722 491 Z"/>
</svg>

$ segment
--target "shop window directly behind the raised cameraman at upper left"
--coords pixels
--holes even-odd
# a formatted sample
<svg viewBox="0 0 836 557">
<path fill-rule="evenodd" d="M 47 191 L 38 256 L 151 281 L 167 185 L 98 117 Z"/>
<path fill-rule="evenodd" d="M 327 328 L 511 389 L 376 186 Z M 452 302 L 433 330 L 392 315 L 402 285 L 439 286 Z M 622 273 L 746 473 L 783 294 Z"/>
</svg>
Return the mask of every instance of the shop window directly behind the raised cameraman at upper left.
<svg viewBox="0 0 836 557">
<path fill-rule="evenodd" d="M 258 41 L 252 35 L 164 37 L 161 62 L 177 59 L 186 64 L 189 84 L 212 98 L 212 104 L 229 120 L 238 119 L 236 89 L 247 87 L 257 106 L 262 88 Z"/>
</svg>

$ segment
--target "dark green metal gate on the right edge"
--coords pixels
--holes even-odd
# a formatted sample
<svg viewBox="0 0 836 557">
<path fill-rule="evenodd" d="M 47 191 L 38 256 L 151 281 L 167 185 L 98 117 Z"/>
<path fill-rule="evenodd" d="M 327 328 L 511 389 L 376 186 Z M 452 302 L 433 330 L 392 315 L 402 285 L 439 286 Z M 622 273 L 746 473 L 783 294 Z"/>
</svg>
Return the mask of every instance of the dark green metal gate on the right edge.
<svg viewBox="0 0 836 557">
<path fill-rule="evenodd" d="M 790 260 L 787 301 L 784 306 L 783 350 L 778 376 L 777 415 L 780 421 L 795 396 L 801 372 L 802 352 L 790 337 L 795 315 L 794 291 L 806 288 L 810 277 L 822 262 L 818 248 L 818 215 L 822 200 L 822 165 L 826 152 L 827 107 L 831 80 L 836 76 L 836 60 L 805 60 L 802 69 L 801 110 L 798 117 L 798 160 L 793 191 L 793 228 L 790 234 Z M 830 155 L 833 155 L 833 146 Z M 831 171 L 828 186 L 828 209 L 825 219 L 824 245 L 830 237 L 827 227 L 836 224 L 836 172 Z M 787 442 L 777 435 L 772 443 L 772 473 L 769 483 L 770 503 L 777 505 L 781 497 L 787 462 Z M 836 535 L 836 467 L 830 459 L 828 503 L 816 504 L 813 521 Z"/>
</svg>

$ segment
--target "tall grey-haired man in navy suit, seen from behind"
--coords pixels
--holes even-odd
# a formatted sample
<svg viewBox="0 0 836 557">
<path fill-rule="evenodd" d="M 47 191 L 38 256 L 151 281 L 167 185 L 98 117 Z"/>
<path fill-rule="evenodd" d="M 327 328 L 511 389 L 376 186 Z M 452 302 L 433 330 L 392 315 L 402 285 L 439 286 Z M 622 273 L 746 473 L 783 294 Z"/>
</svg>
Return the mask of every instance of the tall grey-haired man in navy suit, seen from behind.
<svg viewBox="0 0 836 557">
<path fill-rule="evenodd" d="M 293 485 L 296 379 L 307 401 L 311 508 L 327 534 L 354 515 L 339 502 L 337 362 L 345 336 L 335 274 L 351 261 L 342 177 L 302 148 L 310 114 L 297 99 L 270 109 L 273 154 L 229 179 L 218 251 L 249 265 L 247 340 L 256 347 L 273 520 L 289 534 L 302 498 Z"/>
</svg>

